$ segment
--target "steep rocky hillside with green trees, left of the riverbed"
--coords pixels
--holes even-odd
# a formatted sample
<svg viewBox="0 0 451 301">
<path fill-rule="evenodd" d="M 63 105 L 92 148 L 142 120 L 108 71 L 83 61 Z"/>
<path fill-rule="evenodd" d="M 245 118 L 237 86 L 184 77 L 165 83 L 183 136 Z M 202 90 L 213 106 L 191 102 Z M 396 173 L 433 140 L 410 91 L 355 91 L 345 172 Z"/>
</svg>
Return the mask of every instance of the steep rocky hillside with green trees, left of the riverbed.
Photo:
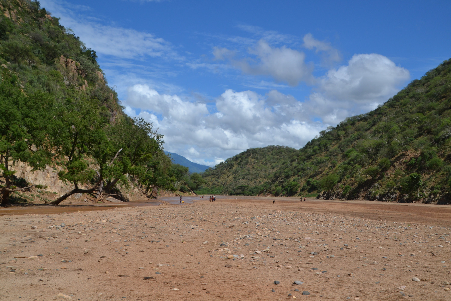
<svg viewBox="0 0 451 301">
<path fill-rule="evenodd" d="M 0 201 L 42 188 L 128 200 L 175 190 L 152 124 L 122 111 L 96 52 L 38 1 L 0 1 Z"/>
</svg>

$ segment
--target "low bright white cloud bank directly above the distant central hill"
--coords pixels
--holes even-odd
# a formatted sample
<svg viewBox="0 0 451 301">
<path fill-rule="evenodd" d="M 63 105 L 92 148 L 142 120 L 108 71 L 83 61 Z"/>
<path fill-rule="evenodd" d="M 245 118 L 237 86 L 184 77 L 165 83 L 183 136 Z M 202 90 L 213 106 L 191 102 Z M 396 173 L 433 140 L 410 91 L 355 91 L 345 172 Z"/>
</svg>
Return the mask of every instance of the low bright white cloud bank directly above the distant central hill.
<svg viewBox="0 0 451 301">
<path fill-rule="evenodd" d="M 130 116 L 141 116 L 159 128 L 168 150 L 210 166 L 248 148 L 300 148 L 325 128 L 309 120 L 295 97 L 276 90 L 262 96 L 229 89 L 209 111 L 205 103 L 134 85 L 124 105 Z"/>
</svg>

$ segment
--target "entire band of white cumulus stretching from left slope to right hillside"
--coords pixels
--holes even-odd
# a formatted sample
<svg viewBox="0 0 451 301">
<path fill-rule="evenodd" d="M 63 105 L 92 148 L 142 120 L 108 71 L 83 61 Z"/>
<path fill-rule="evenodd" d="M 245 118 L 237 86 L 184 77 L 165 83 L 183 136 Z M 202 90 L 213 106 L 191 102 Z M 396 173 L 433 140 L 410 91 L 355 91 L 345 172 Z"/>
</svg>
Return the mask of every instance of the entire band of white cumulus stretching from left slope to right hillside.
<svg viewBox="0 0 451 301">
<path fill-rule="evenodd" d="M 260 95 L 228 89 L 206 103 L 137 84 L 124 105 L 126 113 L 160 129 L 169 151 L 214 166 L 248 148 L 301 148 L 328 125 L 385 102 L 407 79 L 409 72 L 387 57 L 360 54 L 319 78 L 304 102 L 277 90 Z"/>
</svg>

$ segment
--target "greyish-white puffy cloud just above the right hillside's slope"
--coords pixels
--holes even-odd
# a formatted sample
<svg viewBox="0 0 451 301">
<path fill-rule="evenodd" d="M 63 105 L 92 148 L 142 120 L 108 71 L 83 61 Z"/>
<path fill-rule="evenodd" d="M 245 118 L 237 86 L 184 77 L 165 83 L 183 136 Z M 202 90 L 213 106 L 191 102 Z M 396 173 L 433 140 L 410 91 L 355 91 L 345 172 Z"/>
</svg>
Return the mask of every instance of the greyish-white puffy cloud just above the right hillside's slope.
<svg viewBox="0 0 451 301">
<path fill-rule="evenodd" d="M 409 71 L 386 56 L 354 55 L 348 65 L 330 69 L 320 78 L 305 107 L 323 122 L 336 125 L 386 102 L 408 79 Z"/>
</svg>

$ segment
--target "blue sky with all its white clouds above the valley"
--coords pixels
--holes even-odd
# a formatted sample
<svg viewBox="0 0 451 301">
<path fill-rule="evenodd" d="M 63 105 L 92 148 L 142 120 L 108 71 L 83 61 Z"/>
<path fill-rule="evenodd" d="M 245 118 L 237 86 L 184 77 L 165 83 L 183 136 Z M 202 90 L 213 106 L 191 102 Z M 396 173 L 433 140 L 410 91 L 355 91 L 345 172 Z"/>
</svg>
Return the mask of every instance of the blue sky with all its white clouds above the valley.
<svg viewBox="0 0 451 301">
<path fill-rule="evenodd" d="M 209 166 L 300 148 L 451 57 L 451 1 L 40 2 L 97 51 L 127 114 Z"/>
</svg>

